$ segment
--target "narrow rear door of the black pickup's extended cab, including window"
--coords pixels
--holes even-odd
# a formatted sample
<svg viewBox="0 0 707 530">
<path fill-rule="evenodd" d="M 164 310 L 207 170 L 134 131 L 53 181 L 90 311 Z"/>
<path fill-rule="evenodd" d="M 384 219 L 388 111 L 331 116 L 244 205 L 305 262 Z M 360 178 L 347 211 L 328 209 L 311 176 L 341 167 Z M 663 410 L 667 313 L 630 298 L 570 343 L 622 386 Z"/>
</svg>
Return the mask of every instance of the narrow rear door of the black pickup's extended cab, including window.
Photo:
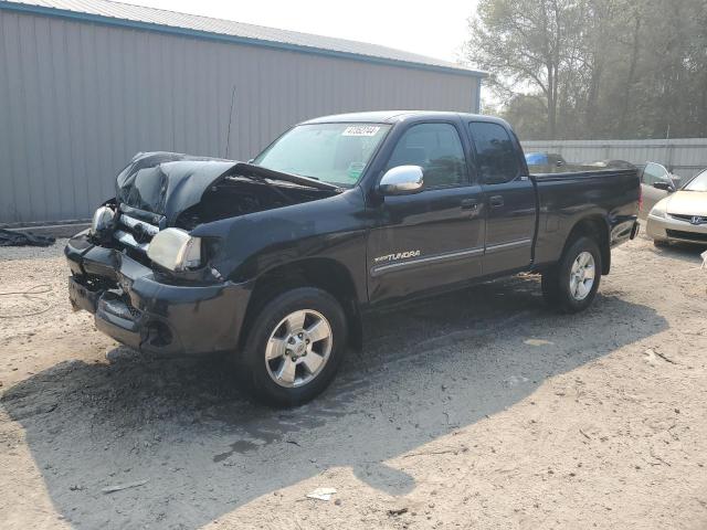
<svg viewBox="0 0 707 530">
<path fill-rule="evenodd" d="M 508 130 L 492 121 L 469 121 L 476 171 L 486 210 L 484 275 L 528 266 L 532 258 L 536 193 L 520 146 Z"/>
</svg>

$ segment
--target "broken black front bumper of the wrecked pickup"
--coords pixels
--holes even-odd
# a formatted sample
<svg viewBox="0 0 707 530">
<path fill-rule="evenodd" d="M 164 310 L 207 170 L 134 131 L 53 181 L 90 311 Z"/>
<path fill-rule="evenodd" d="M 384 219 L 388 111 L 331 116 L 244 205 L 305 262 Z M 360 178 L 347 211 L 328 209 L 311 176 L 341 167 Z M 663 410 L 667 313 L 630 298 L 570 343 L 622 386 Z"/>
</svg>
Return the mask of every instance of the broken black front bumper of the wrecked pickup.
<svg viewBox="0 0 707 530">
<path fill-rule="evenodd" d="M 176 285 L 126 254 L 72 237 L 64 254 L 75 309 L 95 316 L 96 328 L 118 342 L 155 354 L 233 350 L 252 286 L 222 282 Z"/>
</svg>

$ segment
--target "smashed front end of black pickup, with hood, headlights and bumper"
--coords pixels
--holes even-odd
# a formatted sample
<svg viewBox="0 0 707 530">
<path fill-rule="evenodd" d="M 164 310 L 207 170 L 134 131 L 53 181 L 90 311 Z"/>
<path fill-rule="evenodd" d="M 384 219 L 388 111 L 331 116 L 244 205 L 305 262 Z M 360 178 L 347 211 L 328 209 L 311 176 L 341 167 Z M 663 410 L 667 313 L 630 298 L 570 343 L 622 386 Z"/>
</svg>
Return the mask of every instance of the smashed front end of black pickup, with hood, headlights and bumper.
<svg viewBox="0 0 707 530">
<path fill-rule="evenodd" d="M 140 153 L 118 176 L 116 198 L 65 247 L 72 305 L 140 351 L 231 350 L 252 286 L 219 261 L 218 236 L 193 229 L 337 192 L 243 162 Z"/>
</svg>

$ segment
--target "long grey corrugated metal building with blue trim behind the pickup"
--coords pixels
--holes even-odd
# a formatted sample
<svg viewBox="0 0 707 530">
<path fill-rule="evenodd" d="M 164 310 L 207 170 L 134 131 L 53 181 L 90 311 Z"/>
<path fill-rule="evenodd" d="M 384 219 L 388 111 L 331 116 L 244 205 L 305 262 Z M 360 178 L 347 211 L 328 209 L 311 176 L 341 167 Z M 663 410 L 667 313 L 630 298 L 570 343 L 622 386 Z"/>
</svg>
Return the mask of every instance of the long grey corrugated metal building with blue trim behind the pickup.
<svg viewBox="0 0 707 530">
<path fill-rule="evenodd" d="M 477 112 L 483 76 L 384 46 L 107 0 L 0 0 L 0 223 L 88 218 L 138 151 L 243 160 L 315 116 Z"/>
</svg>

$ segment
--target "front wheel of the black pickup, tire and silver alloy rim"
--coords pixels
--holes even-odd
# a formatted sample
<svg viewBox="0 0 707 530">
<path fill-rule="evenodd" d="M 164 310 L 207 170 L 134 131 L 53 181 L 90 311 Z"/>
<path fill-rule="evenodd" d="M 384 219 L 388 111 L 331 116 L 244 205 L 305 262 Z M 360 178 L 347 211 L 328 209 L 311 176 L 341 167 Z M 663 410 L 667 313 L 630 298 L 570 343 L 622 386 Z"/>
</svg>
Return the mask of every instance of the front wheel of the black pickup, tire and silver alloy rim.
<svg viewBox="0 0 707 530">
<path fill-rule="evenodd" d="M 347 339 L 346 314 L 331 295 L 314 287 L 291 289 L 252 320 L 236 370 L 258 401 L 296 406 L 331 383 Z"/>
</svg>

